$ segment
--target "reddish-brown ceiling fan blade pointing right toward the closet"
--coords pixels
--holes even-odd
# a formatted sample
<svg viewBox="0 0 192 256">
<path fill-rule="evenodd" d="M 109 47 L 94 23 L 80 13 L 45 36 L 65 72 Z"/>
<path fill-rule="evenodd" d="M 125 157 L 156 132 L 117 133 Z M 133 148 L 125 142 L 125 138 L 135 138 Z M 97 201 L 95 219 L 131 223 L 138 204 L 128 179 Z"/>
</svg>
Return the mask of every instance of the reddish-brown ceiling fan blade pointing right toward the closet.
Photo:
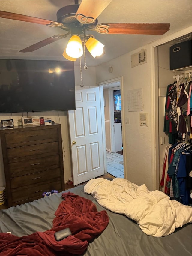
<svg viewBox="0 0 192 256">
<path fill-rule="evenodd" d="M 163 35 L 170 23 L 107 23 L 99 24 L 96 31 L 101 34 Z"/>
</svg>

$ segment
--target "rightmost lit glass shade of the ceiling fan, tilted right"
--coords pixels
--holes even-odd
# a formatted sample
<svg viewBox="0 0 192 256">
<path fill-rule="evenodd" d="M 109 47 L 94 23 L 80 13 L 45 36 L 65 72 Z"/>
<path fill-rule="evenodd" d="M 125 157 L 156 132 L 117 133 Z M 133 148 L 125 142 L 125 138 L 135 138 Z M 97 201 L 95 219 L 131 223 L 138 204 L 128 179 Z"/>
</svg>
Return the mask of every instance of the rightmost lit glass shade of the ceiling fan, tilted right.
<svg viewBox="0 0 192 256">
<path fill-rule="evenodd" d="M 97 39 L 90 37 L 85 43 L 87 50 L 95 58 L 103 53 L 104 44 L 101 44 Z"/>
</svg>

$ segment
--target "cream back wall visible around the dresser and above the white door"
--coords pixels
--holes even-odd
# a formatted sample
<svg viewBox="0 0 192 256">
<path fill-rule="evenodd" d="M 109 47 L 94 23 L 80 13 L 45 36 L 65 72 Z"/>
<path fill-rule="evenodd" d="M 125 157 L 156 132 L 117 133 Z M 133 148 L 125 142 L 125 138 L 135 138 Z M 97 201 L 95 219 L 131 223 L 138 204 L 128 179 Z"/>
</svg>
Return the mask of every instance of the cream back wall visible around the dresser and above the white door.
<svg viewBox="0 0 192 256">
<path fill-rule="evenodd" d="M 95 68 L 88 67 L 88 70 L 82 68 L 82 80 L 84 86 L 95 86 Z M 75 66 L 75 86 L 80 86 L 81 76 L 80 67 Z M 26 116 L 27 113 L 24 113 Z M 71 164 L 71 151 L 70 151 L 70 137 L 69 137 L 69 125 L 68 125 L 68 111 L 50 111 L 50 112 L 34 112 L 29 113 L 29 116 L 43 116 L 44 118 L 51 117 L 55 123 L 61 124 L 61 136 L 63 140 L 63 157 L 64 157 L 64 179 L 65 183 L 72 176 L 72 164 Z M 22 117 L 22 113 L 0 113 L 0 120 L 3 119 L 13 119 L 15 125 L 17 125 L 17 120 Z M 6 186 L 5 175 L 4 175 L 4 165 L 2 158 L 2 149 L 0 141 L 0 186 Z"/>
</svg>

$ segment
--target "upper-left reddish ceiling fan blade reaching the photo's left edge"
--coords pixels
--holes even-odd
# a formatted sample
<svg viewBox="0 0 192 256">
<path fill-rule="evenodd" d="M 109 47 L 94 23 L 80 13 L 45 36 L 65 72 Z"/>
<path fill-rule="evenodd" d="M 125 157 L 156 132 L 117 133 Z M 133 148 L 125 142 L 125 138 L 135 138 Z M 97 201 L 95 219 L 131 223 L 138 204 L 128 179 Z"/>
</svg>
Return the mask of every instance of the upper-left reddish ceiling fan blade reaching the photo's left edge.
<svg viewBox="0 0 192 256">
<path fill-rule="evenodd" d="M 0 11 L 0 17 L 5 18 L 5 19 L 11 19 L 11 20 L 21 20 L 21 21 L 27 21 L 27 22 L 32 22 L 32 23 L 38 23 L 38 24 L 42 24 L 42 25 L 54 23 L 54 21 L 51 21 L 51 20 L 44 20 L 41 18 L 22 15 L 22 14 L 18 14 L 18 13 L 6 12 L 6 11 Z"/>
</svg>

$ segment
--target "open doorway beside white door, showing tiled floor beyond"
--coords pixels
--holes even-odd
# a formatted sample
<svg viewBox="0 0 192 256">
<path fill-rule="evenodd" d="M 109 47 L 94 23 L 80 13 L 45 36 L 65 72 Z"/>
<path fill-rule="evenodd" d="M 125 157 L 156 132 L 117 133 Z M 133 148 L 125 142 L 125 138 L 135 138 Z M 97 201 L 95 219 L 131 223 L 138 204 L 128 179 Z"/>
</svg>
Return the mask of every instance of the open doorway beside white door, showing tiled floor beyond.
<svg viewBox="0 0 192 256">
<path fill-rule="evenodd" d="M 107 81 L 103 89 L 107 172 L 115 177 L 124 178 L 120 80 L 115 83 Z"/>
</svg>

